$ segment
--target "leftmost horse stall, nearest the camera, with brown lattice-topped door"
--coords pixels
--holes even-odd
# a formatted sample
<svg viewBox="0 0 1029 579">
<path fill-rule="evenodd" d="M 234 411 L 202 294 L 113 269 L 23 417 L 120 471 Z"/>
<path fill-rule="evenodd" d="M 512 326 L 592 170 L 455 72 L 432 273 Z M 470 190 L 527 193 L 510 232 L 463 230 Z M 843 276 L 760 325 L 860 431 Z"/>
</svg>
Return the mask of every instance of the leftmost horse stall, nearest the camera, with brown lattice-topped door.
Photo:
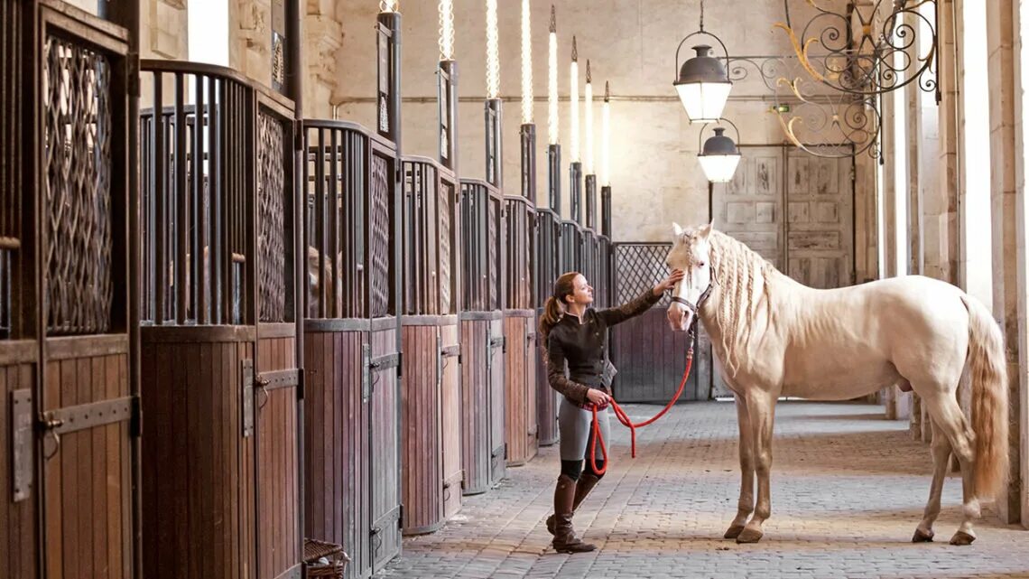
<svg viewBox="0 0 1029 579">
<path fill-rule="evenodd" d="M 0 2 L 0 573 L 12 579 L 137 574 L 132 41 L 63 2 Z"/>
</svg>

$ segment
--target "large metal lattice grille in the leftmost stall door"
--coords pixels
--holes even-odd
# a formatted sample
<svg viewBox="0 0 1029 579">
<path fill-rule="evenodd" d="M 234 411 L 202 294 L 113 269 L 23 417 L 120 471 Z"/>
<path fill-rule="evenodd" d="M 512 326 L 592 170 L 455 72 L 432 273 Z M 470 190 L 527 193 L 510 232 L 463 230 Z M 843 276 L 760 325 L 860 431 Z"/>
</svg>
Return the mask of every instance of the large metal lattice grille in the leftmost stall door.
<svg viewBox="0 0 1029 579">
<path fill-rule="evenodd" d="M 46 328 L 102 334 L 111 322 L 111 65 L 63 38 L 44 45 Z"/>
</svg>

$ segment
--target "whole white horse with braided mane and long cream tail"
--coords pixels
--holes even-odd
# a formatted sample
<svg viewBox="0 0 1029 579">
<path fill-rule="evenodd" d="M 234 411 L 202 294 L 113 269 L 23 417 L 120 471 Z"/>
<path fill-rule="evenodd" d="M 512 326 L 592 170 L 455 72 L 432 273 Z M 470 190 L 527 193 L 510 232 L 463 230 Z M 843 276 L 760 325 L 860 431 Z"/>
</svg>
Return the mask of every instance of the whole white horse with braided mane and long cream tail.
<svg viewBox="0 0 1029 579">
<path fill-rule="evenodd" d="M 979 501 L 995 497 L 1007 476 L 1003 337 L 986 306 L 921 276 L 815 290 L 711 225 L 683 231 L 676 224 L 673 230 L 666 262 L 685 278 L 673 290 L 669 322 L 683 331 L 700 315 L 736 394 L 743 480 L 725 538 L 757 542 L 771 515 L 772 428 L 780 396 L 849 400 L 898 384 L 914 389 L 932 418 L 932 484 L 912 541 L 932 540 L 952 452 L 961 464 L 964 499 L 951 544 L 974 541 Z M 971 380 L 971 425 L 957 401 L 962 379 Z"/>
</svg>

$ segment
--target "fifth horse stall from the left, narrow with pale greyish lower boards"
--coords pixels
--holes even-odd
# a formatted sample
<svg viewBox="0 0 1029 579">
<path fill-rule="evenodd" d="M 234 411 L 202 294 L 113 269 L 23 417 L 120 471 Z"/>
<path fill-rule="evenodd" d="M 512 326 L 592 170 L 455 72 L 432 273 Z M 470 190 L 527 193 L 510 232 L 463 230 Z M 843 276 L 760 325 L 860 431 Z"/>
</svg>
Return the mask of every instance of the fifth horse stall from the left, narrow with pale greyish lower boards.
<svg viewBox="0 0 1029 579">
<path fill-rule="evenodd" d="M 461 466 L 464 495 L 505 476 L 503 197 L 461 179 Z"/>
</svg>

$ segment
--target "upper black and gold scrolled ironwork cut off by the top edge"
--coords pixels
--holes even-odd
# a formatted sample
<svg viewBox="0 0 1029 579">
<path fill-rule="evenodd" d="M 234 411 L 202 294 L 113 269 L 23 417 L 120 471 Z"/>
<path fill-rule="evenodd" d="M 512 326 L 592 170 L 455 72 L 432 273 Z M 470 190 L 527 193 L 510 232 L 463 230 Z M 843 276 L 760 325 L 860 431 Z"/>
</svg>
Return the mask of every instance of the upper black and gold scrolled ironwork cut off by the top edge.
<svg viewBox="0 0 1029 579">
<path fill-rule="evenodd" d="M 843 13 L 823 7 L 821 0 L 808 0 L 817 13 L 800 35 L 789 19 L 789 0 L 783 1 L 786 22 L 775 27 L 786 32 L 802 66 L 818 82 L 860 96 L 882 95 L 918 82 L 939 101 L 936 0 L 893 0 L 884 9 L 883 0 L 847 2 Z M 931 16 L 926 15 L 930 9 Z M 926 34 L 920 32 L 922 28 L 930 37 L 925 54 L 921 54 L 920 37 Z M 825 52 L 815 54 L 816 45 Z"/>
</svg>

